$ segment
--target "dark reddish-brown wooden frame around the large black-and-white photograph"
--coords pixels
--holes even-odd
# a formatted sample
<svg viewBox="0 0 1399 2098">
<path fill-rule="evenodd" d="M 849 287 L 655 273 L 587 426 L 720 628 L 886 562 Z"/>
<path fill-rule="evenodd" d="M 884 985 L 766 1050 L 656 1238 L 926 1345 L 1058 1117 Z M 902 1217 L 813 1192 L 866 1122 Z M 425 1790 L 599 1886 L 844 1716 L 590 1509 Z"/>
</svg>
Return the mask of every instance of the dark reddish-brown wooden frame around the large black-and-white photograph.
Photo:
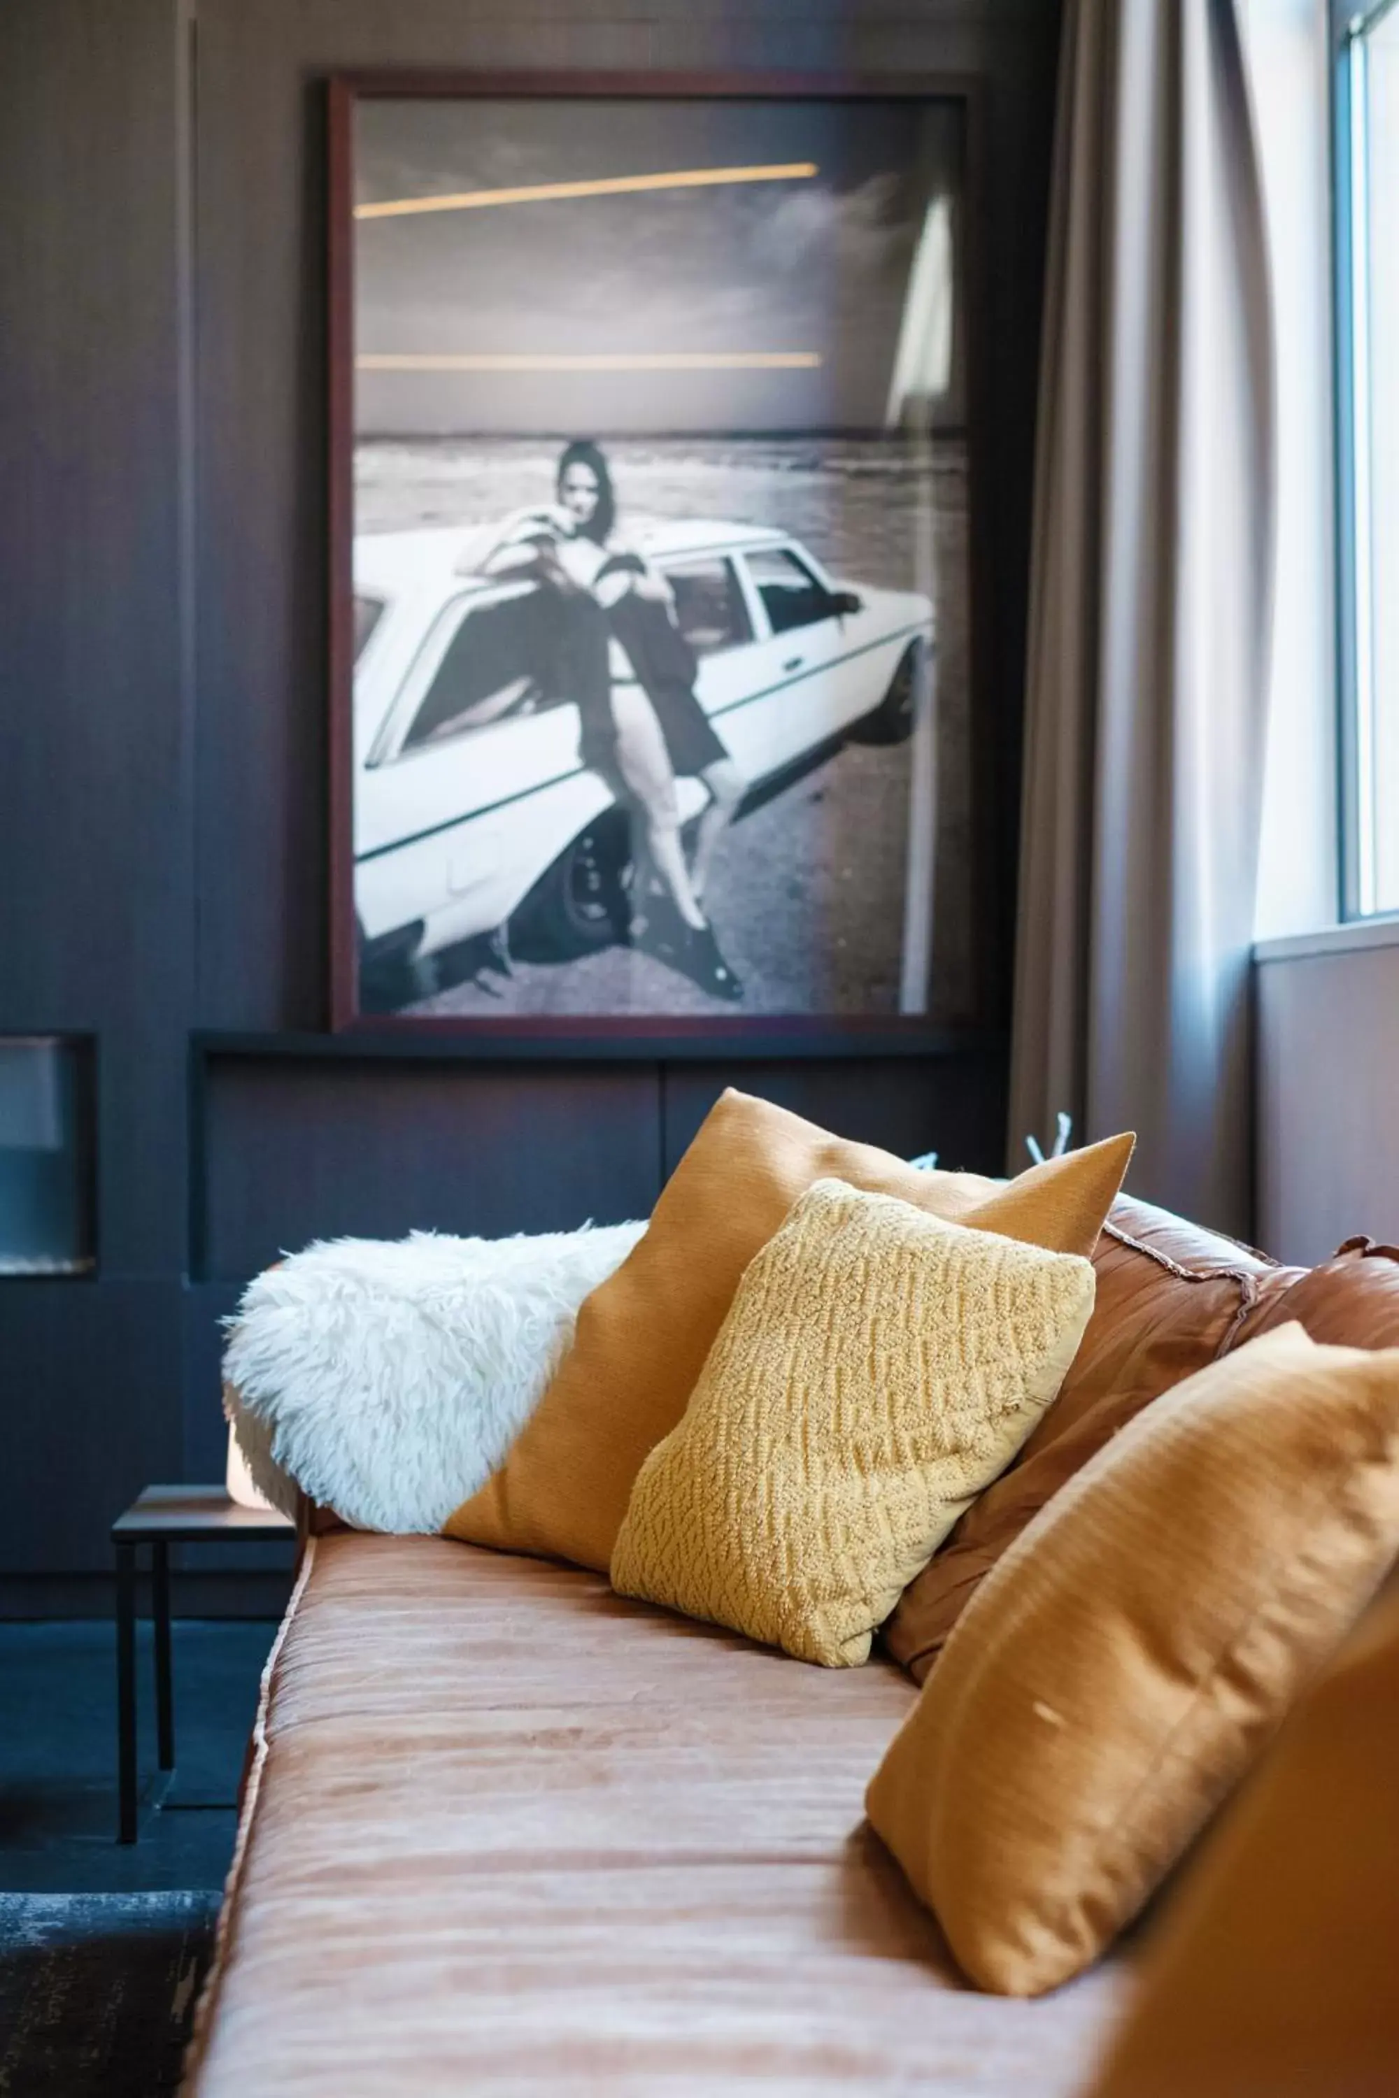
<svg viewBox="0 0 1399 2098">
<path fill-rule="evenodd" d="M 965 890 L 952 944 L 965 961 L 969 986 L 952 1011 L 868 1013 L 415 1013 L 365 1009 L 361 1001 L 361 940 L 354 898 L 354 113 L 365 101 L 715 101 L 715 103 L 956 103 L 961 105 L 961 216 L 959 329 L 967 459 L 965 493 L 965 617 L 967 617 L 967 722 L 965 774 L 969 806 L 961 822 Z M 990 934 L 986 854 L 1000 833 L 988 808 L 994 764 L 988 751 L 992 724 L 988 650 L 988 518 L 984 476 L 986 382 L 984 340 L 984 132 L 980 84 L 965 76 L 690 76 L 690 73 L 342 73 L 327 82 L 329 138 L 329 1024 L 331 1030 L 373 1030 L 426 1039 L 474 1039 L 485 1051 L 495 1043 L 550 1043 L 562 1053 L 608 1053 L 648 1045 L 665 1053 L 726 1045 L 789 1043 L 797 1053 L 917 1053 L 938 1051 L 963 1030 L 980 1030 L 988 971 L 977 946 Z M 858 602 L 858 600 L 856 600 Z M 774 636 L 776 638 L 776 636 Z M 931 942 L 931 934 L 929 934 Z M 466 1045 L 466 1043 L 464 1043 Z"/>
</svg>

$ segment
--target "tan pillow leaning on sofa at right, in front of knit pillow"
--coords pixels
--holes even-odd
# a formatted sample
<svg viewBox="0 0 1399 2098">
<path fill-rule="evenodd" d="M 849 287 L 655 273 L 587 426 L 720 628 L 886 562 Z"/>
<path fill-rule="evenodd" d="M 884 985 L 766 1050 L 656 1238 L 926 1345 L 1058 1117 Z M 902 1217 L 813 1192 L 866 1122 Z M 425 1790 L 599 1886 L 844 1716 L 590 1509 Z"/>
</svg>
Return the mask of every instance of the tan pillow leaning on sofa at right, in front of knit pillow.
<svg viewBox="0 0 1399 2098">
<path fill-rule="evenodd" d="M 967 1974 L 1141 1909 L 1399 1550 L 1399 1349 L 1282 1326 L 1156 1399 L 992 1567 L 866 1806 Z"/>
</svg>

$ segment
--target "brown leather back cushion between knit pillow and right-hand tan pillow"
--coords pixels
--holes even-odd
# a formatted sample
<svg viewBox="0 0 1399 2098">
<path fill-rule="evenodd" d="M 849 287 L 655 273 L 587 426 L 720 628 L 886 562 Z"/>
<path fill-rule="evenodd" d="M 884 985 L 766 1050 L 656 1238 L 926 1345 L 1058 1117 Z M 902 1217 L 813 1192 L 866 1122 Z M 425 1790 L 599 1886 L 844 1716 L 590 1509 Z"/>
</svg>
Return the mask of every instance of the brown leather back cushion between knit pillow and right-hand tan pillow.
<svg viewBox="0 0 1399 2098">
<path fill-rule="evenodd" d="M 1279 1284 L 1298 1273 L 1128 1196 L 1114 1202 L 1093 1267 L 1097 1303 L 1059 1397 L 883 1628 L 885 1649 L 917 1683 L 980 1582 L 1045 1502 L 1143 1406 L 1214 1362 L 1250 1309 L 1271 1303 Z"/>
</svg>

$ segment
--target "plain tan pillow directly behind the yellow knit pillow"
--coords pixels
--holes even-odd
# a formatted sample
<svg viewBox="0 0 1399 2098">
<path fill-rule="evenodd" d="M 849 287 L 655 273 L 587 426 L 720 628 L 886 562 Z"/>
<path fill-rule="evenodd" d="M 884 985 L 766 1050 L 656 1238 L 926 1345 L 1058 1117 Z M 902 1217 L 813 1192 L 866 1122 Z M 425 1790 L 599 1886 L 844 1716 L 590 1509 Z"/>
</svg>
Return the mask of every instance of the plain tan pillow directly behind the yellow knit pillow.
<svg viewBox="0 0 1399 2098">
<path fill-rule="evenodd" d="M 1133 1154 L 1110 1137 L 1013 1181 L 921 1173 L 766 1099 L 728 1091 L 671 1175 L 646 1236 L 585 1299 L 568 1355 L 449 1538 L 606 1571 L 644 1458 L 686 1410 L 753 1255 L 824 1177 L 1051 1253 L 1091 1255 Z"/>
</svg>

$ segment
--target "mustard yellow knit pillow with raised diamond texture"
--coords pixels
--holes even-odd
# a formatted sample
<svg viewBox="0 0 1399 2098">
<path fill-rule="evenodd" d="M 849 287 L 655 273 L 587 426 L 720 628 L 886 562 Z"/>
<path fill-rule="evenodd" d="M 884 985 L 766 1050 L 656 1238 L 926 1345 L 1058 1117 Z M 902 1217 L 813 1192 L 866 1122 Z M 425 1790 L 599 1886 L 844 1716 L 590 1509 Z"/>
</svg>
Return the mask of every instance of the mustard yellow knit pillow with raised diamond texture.
<svg viewBox="0 0 1399 2098">
<path fill-rule="evenodd" d="M 749 1263 L 631 1490 L 612 1586 L 864 1662 L 1057 1393 L 1093 1265 L 816 1181 Z"/>
</svg>

